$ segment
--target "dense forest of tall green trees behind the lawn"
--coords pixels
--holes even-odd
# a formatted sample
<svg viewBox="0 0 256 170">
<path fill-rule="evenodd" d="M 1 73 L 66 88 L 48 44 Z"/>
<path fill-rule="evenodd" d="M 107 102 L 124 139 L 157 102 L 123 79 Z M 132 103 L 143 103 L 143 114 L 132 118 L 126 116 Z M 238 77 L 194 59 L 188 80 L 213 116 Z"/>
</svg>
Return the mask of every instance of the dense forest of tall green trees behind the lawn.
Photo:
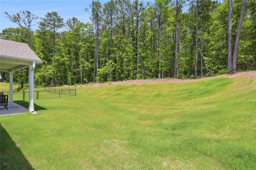
<svg viewBox="0 0 256 170">
<path fill-rule="evenodd" d="M 200 78 L 256 68 L 254 0 L 92 1 L 90 23 L 43 18 L 30 11 L 5 15 L 16 28 L 3 39 L 26 42 L 43 60 L 36 86 L 148 78 Z M 36 26 L 34 29 L 33 26 Z M 9 74 L 1 73 L 8 81 Z M 28 70 L 14 73 L 20 87 Z"/>
</svg>

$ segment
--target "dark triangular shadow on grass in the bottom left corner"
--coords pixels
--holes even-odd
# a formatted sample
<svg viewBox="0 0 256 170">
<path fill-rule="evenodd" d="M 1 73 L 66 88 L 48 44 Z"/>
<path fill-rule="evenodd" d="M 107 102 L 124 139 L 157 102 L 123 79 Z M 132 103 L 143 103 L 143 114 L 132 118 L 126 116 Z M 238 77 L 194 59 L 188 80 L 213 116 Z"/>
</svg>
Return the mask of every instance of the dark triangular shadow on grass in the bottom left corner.
<svg viewBox="0 0 256 170">
<path fill-rule="evenodd" d="M 34 169 L 0 124 L 0 169 Z"/>
</svg>

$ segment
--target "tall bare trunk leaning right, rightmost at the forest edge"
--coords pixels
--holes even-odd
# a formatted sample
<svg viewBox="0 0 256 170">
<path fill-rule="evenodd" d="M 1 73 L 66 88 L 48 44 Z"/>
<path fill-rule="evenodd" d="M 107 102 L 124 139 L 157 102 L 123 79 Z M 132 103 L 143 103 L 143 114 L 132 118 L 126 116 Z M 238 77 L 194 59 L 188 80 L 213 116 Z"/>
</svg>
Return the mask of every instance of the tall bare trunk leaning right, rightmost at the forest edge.
<svg viewBox="0 0 256 170">
<path fill-rule="evenodd" d="M 234 44 L 232 71 L 237 71 L 238 43 L 239 43 L 240 33 L 241 33 L 241 28 L 242 28 L 243 14 L 245 14 L 245 5 L 246 5 L 246 0 L 243 0 L 240 21 L 239 21 L 239 25 L 238 25 L 238 29 L 237 29 L 236 42 Z"/>
</svg>

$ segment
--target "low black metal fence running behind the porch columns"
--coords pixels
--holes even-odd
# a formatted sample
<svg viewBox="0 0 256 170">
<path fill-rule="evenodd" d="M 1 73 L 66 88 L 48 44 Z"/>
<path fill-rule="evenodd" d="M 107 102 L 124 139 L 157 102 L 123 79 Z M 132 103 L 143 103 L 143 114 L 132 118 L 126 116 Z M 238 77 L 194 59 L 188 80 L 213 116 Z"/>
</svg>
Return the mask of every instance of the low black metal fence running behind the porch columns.
<svg viewBox="0 0 256 170">
<path fill-rule="evenodd" d="M 9 91 L 1 91 L 4 95 L 10 95 Z M 64 96 L 76 96 L 76 89 L 44 88 L 34 91 L 34 99 L 52 99 Z M 29 100 L 29 91 L 13 92 L 13 100 Z"/>
</svg>

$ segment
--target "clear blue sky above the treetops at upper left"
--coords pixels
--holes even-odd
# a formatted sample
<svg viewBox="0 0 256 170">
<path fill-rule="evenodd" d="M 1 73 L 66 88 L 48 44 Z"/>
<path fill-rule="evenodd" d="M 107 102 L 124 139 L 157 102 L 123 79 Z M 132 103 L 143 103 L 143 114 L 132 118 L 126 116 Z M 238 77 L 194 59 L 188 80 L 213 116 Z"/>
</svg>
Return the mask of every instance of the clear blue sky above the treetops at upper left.
<svg viewBox="0 0 256 170">
<path fill-rule="evenodd" d="M 9 27 L 18 27 L 17 24 L 10 22 L 5 17 L 4 12 L 7 11 L 9 14 L 15 14 L 18 11 L 29 10 L 32 14 L 39 17 L 44 17 L 47 12 L 56 11 L 66 21 L 68 18 L 75 16 L 82 22 L 90 22 L 90 10 L 85 12 L 85 8 L 89 8 L 91 0 L 82 1 L 3 1 L 0 0 L 0 31 Z M 107 2 L 106 0 L 101 1 L 102 3 Z M 40 19 L 38 19 L 39 21 Z M 36 27 L 35 27 L 36 28 Z"/>
</svg>

